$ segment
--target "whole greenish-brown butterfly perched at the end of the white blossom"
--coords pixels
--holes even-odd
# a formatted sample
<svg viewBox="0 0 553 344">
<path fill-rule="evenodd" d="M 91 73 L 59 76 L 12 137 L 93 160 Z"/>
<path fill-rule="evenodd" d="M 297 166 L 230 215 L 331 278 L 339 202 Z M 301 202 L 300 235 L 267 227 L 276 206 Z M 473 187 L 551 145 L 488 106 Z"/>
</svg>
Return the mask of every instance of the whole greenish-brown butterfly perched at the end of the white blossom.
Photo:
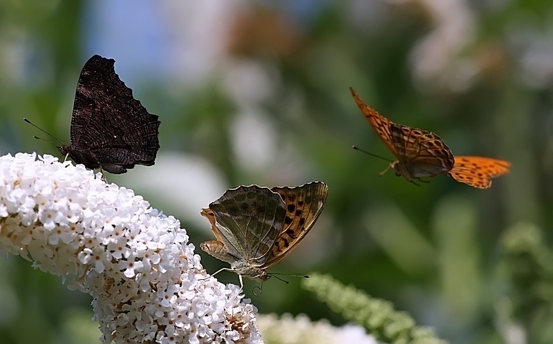
<svg viewBox="0 0 553 344">
<path fill-rule="evenodd" d="M 328 187 L 238 187 L 227 190 L 201 214 L 216 240 L 203 242 L 207 254 L 230 264 L 231 271 L 258 281 L 310 231 L 326 201 Z"/>
</svg>

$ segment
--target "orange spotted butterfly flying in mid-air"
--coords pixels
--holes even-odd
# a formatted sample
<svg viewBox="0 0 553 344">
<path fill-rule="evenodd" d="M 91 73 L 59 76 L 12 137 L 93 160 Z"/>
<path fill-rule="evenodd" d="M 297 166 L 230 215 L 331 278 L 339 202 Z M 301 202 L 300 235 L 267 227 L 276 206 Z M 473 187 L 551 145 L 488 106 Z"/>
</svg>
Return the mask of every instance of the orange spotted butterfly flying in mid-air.
<svg viewBox="0 0 553 344">
<path fill-rule="evenodd" d="M 491 178 L 511 169 L 509 162 L 489 157 L 453 157 L 449 147 L 435 133 L 395 124 L 365 104 L 353 88 L 350 91 L 363 115 L 397 158 L 381 175 L 391 168 L 396 175 L 415 183 L 422 177 L 444 173 L 471 187 L 487 189 L 491 186 Z"/>
</svg>

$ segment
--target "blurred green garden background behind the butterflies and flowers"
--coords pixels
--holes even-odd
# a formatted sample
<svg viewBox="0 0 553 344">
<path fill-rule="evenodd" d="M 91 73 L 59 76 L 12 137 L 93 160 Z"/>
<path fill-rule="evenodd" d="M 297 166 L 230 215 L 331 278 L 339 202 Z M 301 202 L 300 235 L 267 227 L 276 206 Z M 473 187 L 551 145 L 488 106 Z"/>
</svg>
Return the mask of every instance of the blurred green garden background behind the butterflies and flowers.
<svg viewBox="0 0 553 344">
<path fill-rule="evenodd" d="M 332 274 L 451 343 L 550 343 L 553 289 L 534 276 L 549 298 L 517 309 L 531 297 L 512 292 L 499 242 L 519 222 L 549 236 L 552 19 L 550 0 L 2 1 L 0 152 L 61 156 L 22 118 L 68 143 L 82 65 L 113 58 L 160 115 L 161 149 L 154 166 L 107 178 L 178 218 L 196 247 L 212 238 L 200 208 L 225 189 L 321 180 L 321 218 L 272 271 Z M 485 191 L 379 177 L 386 162 L 350 146 L 392 155 L 350 86 L 453 154 L 509 160 L 512 172 Z M 225 266 L 198 254 L 208 271 Z M 0 274 L 1 343 L 98 342 L 90 297 L 19 257 Z M 286 279 L 245 291 L 261 313 L 344 323 Z"/>
</svg>

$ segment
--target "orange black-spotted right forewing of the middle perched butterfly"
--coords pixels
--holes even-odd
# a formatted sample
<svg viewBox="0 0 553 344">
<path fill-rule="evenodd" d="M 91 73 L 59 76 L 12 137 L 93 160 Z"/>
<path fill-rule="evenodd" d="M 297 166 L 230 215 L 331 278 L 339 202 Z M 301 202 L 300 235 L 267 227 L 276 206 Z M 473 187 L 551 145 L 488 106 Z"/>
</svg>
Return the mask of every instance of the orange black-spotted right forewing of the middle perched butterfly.
<svg viewBox="0 0 553 344">
<path fill-rule="evenodd" d="M 283 258 L 305 238 L 321 215 L 328 187 L 324 182 L 310 182 L 301 187 L 273 187 L 286 204 L 284 226 L 272 247 L 269 260 L 264 267 L 271 267 Z"/>
</svg>

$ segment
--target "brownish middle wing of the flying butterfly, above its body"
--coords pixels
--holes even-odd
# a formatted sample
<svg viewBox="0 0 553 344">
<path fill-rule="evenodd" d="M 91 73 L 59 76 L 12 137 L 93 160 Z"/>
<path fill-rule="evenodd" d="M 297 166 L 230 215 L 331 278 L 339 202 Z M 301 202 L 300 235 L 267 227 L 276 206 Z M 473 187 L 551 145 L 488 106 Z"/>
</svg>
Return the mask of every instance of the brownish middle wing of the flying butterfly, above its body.
<svg viewBox="0 0 553 344">
<path fill-rule="evenodd" d="M 415 173 L 424 171 L 427 175 L 436 175 L 453 168 L 453 154 L 435 133 L 395 123 L 391 124 L 390 131 L 397 159 Z"/>
</svg>

